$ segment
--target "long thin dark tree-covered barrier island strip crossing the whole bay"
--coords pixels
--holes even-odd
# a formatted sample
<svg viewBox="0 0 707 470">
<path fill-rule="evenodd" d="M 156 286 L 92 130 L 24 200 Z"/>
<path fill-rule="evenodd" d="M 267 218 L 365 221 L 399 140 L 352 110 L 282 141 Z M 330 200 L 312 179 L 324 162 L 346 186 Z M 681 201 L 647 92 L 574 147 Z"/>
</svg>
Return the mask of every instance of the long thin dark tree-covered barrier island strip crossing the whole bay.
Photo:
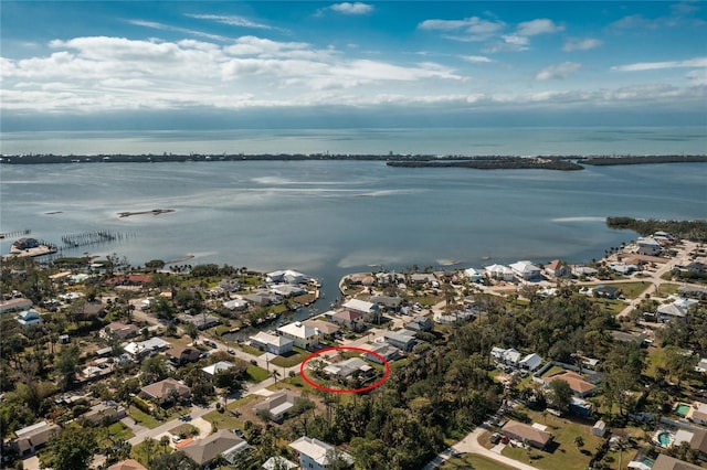
<svg viewBox="0 0 707 470">
<path fill-rule="evenodd" d="M 663 154 L 663 156 L 432 156 L 432 154 L 329 154 L 329 153 L 257 153 L 257 154 L 14 154 L 0 158 L 0 164 L 46 164 L 46 163 L 166 163 L 201 161 L 382 161 L 389 167 L 407 168 L 472 168 L 481 170 L 498 169 L 546 169 L 572 171 L 582 170 L 583 164 L 623 165 L 655 163 L 705 163 L 707 154 Z"/>
</svg>

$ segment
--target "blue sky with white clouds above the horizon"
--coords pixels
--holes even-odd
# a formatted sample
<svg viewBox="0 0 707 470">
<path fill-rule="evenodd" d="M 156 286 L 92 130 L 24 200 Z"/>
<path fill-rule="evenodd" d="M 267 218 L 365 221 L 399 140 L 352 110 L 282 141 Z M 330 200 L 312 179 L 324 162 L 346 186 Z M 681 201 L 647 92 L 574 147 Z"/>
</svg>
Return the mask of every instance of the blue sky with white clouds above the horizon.
<svg viewBox="0 0 707 470">
<path fill-rule="evenodd" d="M 3 0 L 0 122 L 704 126 L 706 8 Z"/>
</svg>

